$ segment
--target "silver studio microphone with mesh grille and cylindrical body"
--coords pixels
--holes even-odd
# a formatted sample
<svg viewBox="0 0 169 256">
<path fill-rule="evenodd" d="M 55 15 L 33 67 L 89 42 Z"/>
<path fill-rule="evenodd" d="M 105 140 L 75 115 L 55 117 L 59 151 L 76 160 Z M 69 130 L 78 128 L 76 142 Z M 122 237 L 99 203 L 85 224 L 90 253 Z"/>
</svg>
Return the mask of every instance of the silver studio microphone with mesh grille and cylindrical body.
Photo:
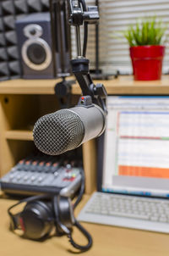
<svg viewBox="0 0 169 256">
<path fill-rule="evenodd" d="M 76 107 L 46 114 L 36 121 L 34 142 L 42 153 L 58 155 L 67 152 L 105 131 L 105 112 L 88 99 L 81 97 Z"/>
</svg>

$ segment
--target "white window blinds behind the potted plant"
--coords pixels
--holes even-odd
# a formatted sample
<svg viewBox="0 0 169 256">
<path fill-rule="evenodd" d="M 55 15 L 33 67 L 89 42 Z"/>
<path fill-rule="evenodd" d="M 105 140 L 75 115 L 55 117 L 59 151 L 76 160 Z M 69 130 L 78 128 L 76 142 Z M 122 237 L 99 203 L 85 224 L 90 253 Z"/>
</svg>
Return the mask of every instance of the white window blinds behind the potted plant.
<svg viewBox="0 0 169 256">
<path fill-rule="evenodd" d="M 86 0 L 87 5 L 95 1 Z M 105 73 L 131 74 L 132 66 L 128 52 L 128 42 L 122 36 L 129 25 L 144 17 L 160 18 L 167 25 L 166 36 L 169 40 L 169 0 L 102 0 L 100 1 L 100 68 Z M 83 41 L 82 41 L 83 42 Z M 75 34 L 72 28 L 72 54 L 76 56 Z M 95 25 L 89 25 L 87 58 L 90 68 L 95 68 Z M 163 63 L 163 72 L 169 70 L 169 49 Z"/>
</svg>

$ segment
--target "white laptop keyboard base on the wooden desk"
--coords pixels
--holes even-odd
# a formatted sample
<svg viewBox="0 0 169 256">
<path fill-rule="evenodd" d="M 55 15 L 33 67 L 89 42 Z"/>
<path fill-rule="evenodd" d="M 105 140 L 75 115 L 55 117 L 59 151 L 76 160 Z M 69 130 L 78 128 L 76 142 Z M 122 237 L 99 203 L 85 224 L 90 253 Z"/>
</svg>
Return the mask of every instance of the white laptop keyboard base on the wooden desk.
<svg viewBox="0 0 169 256">
<path fill-rule="evenodd" d="M 169 233 L 169 200 L 95 192 L 78 220 Z"/>
</svg>

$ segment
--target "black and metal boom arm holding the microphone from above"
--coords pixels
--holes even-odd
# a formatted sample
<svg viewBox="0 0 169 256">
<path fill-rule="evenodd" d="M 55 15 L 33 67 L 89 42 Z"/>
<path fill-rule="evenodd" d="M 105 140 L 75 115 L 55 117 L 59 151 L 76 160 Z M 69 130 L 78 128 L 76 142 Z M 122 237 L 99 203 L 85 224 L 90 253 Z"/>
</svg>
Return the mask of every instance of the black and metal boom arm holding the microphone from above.
<svg viewBox="0 0 169 256">
<path fill-rule="evenodd" d="M 86 7 L 85 0 L 68 0 L 69 3 L 69 23 L 75 26 L 76 44 L 78 57 L 71 60 L 72 71 L 79 83 L 83 96 L 90 96 L 93 103 L 99 105 L 106 111 L 106 88 L 103 84 L 94 84 L 90 76 L 89 59 L 85 58 L 87 46 L 87 26 L 96 24 L 99 19 L 98 8 L 96 6 Z M 84 48 L 81 53 L 80 25 L 84 25 Z"/>
</svg>

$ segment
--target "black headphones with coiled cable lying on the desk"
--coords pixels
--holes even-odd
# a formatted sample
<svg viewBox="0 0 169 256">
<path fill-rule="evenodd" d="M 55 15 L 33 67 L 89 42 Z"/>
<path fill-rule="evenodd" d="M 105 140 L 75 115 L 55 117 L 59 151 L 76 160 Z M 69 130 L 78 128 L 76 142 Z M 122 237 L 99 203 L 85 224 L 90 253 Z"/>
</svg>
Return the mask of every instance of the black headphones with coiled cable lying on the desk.
<svg viewBox="0 0 169 256">
<path fill-rule="evenodd" d="M 43 201 L 42 199 L 47 199 Z M 50 199 L 50 200 L 49 200 Z M 24 209 L 13 214 L 12 209 L 21 203 L 26 203 Z M 88 231 L 74 218 L 74 206 L 70 198 L 60 195 L 39 195 L 20 200 L 8 209 L 12 231 L 23 231 L 23 237 L 40 241 L 56 229 L 57 236 L 67 235 L 69 242 L 80 251 L 87 251 L 92 246 L 92 238 Z M 85 246 L 74 242 L 73 226 L 76 226 L 87 238 Z"/>
</svg>

